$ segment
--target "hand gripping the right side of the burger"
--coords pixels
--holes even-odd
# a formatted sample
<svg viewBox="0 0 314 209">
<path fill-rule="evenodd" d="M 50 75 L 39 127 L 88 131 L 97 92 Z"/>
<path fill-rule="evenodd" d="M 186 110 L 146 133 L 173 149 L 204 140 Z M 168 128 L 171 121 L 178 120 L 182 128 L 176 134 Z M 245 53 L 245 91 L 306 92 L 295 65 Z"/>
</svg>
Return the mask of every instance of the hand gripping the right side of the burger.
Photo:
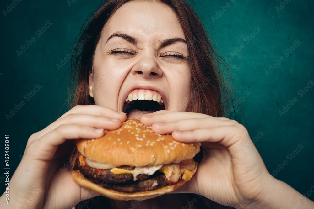
<svg viewBox="0 0 314 209">
<path fill-rule="evenodd" d="M 176 193 L 196 193 L 241 207 L 263 201 L 269 186 L 277 181 L 268 173 L 246 128 L 234 120 L 164 110 L 143 115 L 140 121 L 155 133 L 172 134 L 177 141 L 202 143 L 204 154 L 197 172 Z"/>
</svg>

